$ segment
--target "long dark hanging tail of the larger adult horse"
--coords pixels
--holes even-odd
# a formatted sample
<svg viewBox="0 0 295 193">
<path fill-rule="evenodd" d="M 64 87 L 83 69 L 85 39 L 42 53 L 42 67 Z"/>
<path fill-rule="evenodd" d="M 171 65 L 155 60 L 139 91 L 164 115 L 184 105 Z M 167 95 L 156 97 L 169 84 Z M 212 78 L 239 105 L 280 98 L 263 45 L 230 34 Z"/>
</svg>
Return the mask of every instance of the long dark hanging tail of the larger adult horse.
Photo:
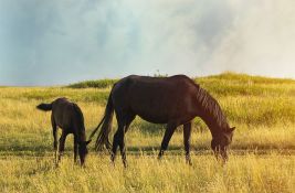
<svg viewBox="0 0 295 193">
<path fill-rule="evenodd" d="M 95 150 L 96 151 L 102 150 L 104 144 L 105 144 L 106 149 L 108 151 L 110 151 L 112 144 L 108 140 L 108 135 L 109 135 L 110 129 L 112 129 L 113 116 L 114 116 L 114 106 L 113 106 L 113 101 L 112 101 L 112 92 L 110 92 L 108 99 L 107 99 L 107 105 L 105 108 L 105 115 L 104 115 L 103 119 L 101 120 L 101 122 L 98 124 L 98 126 L 94 129 L 94 131 L 92 131 L 92 133 L 89 136 L 89 139 L 92 139 L 93 136 L 95 135 L 95 132 L 103 125 L 102 129 L 97 136 L 96 142 L 95 142 Z"/>
</svg>

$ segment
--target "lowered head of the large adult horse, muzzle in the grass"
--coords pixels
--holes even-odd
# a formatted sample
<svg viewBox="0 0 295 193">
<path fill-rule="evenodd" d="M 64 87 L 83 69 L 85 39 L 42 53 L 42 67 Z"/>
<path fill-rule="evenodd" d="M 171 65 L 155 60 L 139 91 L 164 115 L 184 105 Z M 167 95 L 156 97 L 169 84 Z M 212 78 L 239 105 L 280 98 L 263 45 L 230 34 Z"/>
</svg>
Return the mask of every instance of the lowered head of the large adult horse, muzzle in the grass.
<svg viewBox="0 0 295 193">
<path fill-rule="evenodd" d="M 221 156 L 223 161 L 228 160 L 226 149 L 229 144 L 232 142 L 232 136 L 235 127 L 229 128 L 225 131 L 213 137 L 211 141 L 211 148 L 214 151 L 217 158 Z"/>
</svg>

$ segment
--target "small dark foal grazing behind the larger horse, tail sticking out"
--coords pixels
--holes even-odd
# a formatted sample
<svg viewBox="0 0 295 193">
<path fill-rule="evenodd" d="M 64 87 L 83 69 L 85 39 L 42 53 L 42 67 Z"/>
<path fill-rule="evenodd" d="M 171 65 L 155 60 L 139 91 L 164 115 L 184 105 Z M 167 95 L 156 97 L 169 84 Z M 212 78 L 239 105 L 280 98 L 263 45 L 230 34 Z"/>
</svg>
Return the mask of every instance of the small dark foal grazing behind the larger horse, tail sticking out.
<svg viewBox="0 0 295 193">
<path fill-rule="evenodd" d="M 77 161 L 78 153 L 81 165 L 83 165 L 86 154 L 88 153 L 86 146 L 89 141 L 86 141 L 84 117 L 80 107 L 76 104 L 69 101 L 66 98 L 57 98 L 51 104 L 40 104 L 36 108 L 44 111 L 52 110 L 51 124 L 53 129 L 55 161 L 57 157 L 57 127 L 60 127 L 62 129 L 62 136 L 60 138 L 59 161 L 61 160 L 61 154 L 64 151 L 66 136 L 69 133 L 73 133 L 74 161 Z"/>
</svg>

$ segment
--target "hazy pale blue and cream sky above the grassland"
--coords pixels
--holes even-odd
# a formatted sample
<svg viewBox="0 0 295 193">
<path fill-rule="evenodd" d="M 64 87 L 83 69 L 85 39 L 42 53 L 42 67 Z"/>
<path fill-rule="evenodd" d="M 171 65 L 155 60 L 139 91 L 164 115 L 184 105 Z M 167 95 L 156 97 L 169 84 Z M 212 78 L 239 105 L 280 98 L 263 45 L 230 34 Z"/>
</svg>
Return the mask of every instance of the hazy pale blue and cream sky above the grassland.
<svg viewBox="0 0 295 193">
<path fill-rule="evenodd" d="M 226 71 L 295 78 L 294 0 L 0 0 L 0 85 Z"/>
</svg>

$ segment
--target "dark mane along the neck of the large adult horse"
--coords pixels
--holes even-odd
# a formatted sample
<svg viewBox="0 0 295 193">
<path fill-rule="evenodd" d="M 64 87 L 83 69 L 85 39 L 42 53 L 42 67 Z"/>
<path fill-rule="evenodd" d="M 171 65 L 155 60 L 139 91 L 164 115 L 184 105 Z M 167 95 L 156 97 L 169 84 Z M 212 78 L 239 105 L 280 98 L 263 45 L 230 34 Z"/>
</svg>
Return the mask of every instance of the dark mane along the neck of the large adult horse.
<svg viewBox="0 0 295 193">
<path fill-rule="evenodd" d="M 212 121 L 215 121 L 221 129 L 226 129 L 229 124 L 218 101 L 206 89 L 197 84 L 196 86 L 198 88 L 197 100 L 204 109 L 206 116 L 211 117 Z"/>
</svg>

